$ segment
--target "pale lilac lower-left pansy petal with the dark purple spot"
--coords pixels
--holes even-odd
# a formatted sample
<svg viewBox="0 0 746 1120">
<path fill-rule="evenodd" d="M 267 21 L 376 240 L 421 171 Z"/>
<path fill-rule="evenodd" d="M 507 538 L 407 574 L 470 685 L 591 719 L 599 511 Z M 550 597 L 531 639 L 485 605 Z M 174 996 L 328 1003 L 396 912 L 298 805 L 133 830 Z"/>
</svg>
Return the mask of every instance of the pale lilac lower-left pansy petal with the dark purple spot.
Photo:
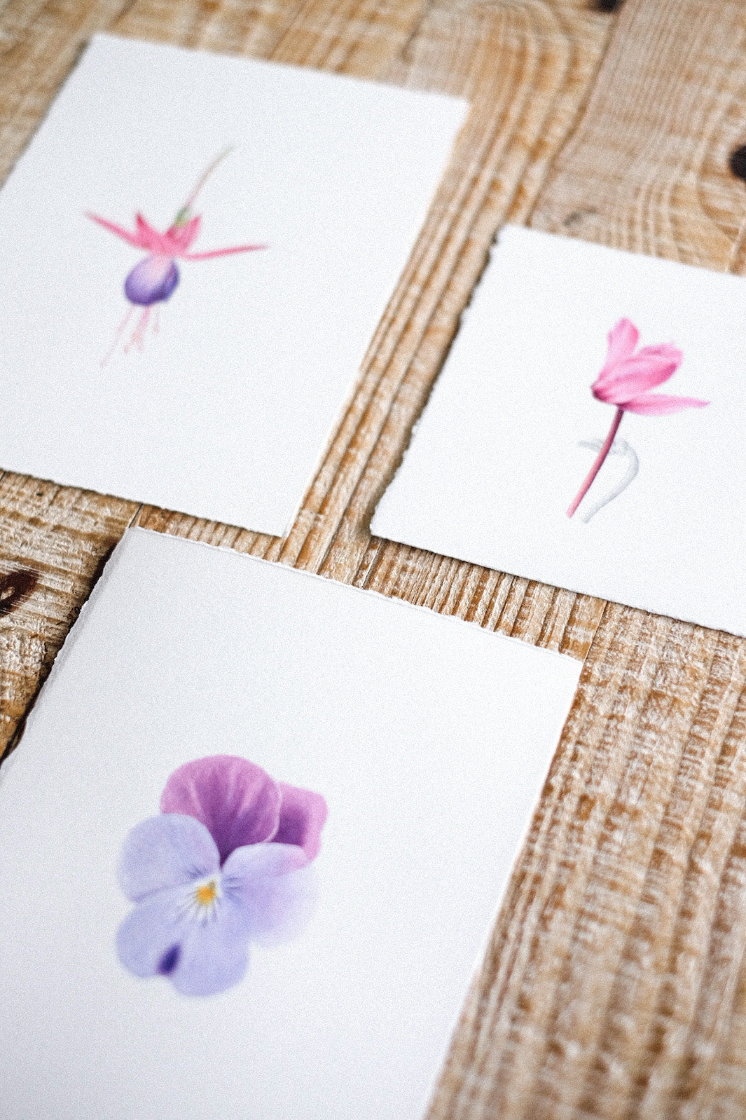
<svg viewBox="0 0 746 1120">
<path fill-rule="evenodd" d="M 189 888 L 170 887 L 149 895 L 128 914 L 116 933 L 116 952 L 136 977 L 169 976 L 178 963 L 189 925 Z"/>
</svg>

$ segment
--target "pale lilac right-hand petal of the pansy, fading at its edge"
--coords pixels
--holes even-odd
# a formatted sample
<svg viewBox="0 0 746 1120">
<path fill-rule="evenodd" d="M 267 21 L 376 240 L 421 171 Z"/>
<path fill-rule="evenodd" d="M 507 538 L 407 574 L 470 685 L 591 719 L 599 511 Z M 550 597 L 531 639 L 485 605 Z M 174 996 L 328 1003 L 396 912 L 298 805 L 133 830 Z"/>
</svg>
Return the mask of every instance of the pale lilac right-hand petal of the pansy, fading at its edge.
<svg viewBox="0 0 746 1120">
<path fill-rule="evenodd" d="M 296 844 L 237 848 L 223 868 L 225 895 L 240 905 L 248 936 L 260 945 L 301 932 L 314 909 L 315 887 L 313 868 Z"/>
</svg>

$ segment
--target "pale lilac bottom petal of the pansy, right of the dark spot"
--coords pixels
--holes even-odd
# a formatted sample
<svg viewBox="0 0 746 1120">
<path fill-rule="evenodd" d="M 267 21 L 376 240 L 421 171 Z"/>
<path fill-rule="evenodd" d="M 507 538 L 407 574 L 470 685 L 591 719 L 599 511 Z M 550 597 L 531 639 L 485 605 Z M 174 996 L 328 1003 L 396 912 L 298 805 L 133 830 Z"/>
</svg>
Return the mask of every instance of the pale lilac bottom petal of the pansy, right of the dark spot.
<svg viewBox="0 0 746 1120">
<path fill-rule="evenodd" d="M 221 898 L 206 921 L 190 922 L 170 980 L 184 996 L 213 996 L 243 978 L 249 964 L 249 935 L 236 903 Z"/>
</svg>

